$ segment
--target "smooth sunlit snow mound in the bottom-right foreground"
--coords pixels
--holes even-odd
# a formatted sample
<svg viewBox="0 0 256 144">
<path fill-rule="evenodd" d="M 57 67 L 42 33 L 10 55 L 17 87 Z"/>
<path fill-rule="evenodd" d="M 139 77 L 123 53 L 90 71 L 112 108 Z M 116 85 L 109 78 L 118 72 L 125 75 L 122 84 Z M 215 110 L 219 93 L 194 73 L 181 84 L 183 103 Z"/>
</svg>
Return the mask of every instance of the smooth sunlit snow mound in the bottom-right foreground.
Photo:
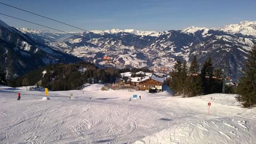
<svg viewBox="0 0 256 144">
<path fill-rule="evenodd" d="M 255 119 L 233 116 L 174 125 L 134 143 L 253 143 L 253 129 Z"/>
</svg>

